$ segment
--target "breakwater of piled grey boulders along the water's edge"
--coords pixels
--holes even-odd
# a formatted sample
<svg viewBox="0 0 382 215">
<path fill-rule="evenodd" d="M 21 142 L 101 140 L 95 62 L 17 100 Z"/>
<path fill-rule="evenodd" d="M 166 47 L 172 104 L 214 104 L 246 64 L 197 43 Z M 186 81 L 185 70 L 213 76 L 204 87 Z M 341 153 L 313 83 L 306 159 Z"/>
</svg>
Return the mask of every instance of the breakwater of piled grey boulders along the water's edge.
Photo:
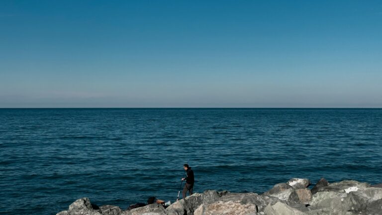
<svg viewBox="0 0 382 215">
<path fill-rule="evenodd" d="M 123 211 L 117 206 L 98 207 L 83 198 L 57 215 L 382 215 L 381 184 L 321 179 L 312 189 L 309 186 L 308 179 L 291 179 L 263 194 L 208 190 L 166 209 L 150 204 Z"/>
</svg>

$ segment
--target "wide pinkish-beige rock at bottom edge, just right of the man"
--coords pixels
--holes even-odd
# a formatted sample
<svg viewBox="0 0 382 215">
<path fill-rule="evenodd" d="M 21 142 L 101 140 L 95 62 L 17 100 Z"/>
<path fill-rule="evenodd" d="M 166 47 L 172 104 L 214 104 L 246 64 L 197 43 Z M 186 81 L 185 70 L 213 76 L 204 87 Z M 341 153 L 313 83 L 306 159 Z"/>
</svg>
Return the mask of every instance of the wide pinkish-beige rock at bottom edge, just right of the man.
<svg viewBox="0 0 382 215">
<path fill-rule="evenodd" d="M 208 205 L 200 205 L 193 215 L 255 215 L 256 205 L 240 204 L 237 202 L 215 202 Z"/>
</svg>

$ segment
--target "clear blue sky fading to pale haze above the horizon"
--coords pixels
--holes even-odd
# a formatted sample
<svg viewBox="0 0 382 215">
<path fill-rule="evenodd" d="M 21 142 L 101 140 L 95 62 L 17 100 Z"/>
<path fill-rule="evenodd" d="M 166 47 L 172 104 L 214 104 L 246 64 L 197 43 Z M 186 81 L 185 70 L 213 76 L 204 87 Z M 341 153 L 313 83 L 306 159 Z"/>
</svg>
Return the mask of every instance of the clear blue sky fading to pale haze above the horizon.
<svg viewBox="0 0 382 215">
<path fill-rule="evenodd" d="M 382 1 L 1 0 L 0 108 L 382 108 Z"/>
</svg>

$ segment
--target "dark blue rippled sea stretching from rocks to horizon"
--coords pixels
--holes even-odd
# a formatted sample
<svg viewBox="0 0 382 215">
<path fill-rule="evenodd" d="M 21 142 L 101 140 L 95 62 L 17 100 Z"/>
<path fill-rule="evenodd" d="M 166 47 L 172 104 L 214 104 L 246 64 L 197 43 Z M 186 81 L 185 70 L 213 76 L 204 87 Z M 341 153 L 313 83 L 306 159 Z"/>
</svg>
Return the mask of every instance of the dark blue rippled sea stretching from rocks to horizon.
<svg viewBox="0 0 382 215">
<path fill-rule="evenodd" d="M 382 109 L 0 109 L 0 214 L 262 193 L 290 178 L 382 183 Z"/>
</svg>

